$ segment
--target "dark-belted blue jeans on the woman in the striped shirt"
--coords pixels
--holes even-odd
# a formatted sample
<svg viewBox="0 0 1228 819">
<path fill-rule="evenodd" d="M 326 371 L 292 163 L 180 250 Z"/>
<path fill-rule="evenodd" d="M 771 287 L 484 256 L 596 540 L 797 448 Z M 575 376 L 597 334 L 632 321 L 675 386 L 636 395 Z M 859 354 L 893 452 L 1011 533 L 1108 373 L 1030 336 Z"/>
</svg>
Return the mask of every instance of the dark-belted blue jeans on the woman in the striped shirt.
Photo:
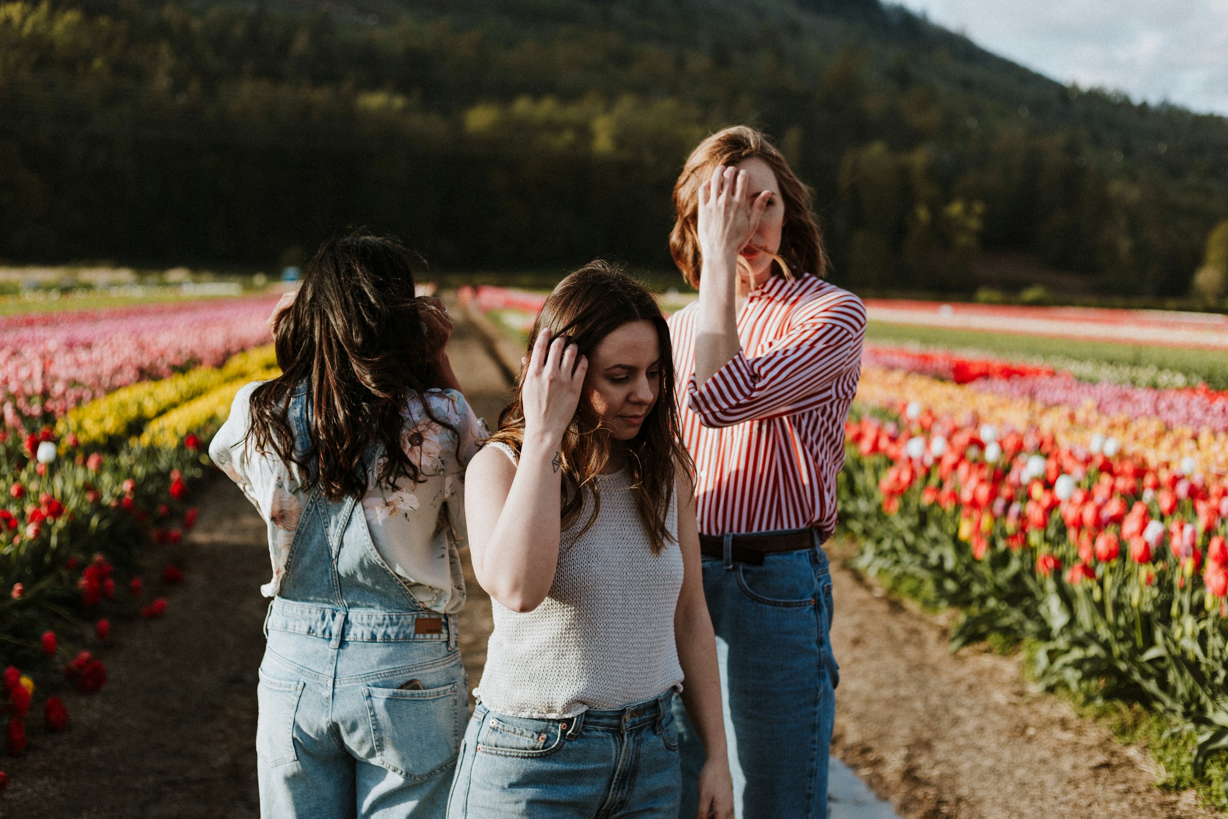
<svg viewBox="0 0 1228 819">
<path fill-rule="evenodd" d="M 738 819 L 823 819 L 840 672 L 831 653 L 831 572 L 823 549 L 763 566 L 704 557 L 716 629 Z M 683 708 L 679 819 L 694 819 L 704 748 Z"/>
</svg>

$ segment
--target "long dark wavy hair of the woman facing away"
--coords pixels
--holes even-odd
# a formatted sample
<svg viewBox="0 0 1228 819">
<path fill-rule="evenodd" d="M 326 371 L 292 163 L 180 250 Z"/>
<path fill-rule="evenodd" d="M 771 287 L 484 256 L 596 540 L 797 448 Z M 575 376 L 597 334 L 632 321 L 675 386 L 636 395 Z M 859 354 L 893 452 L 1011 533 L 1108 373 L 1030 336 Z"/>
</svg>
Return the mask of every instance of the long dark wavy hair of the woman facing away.
<svg viewBox="0 0 1228 819">
<path fill-rule="evenodd" d="M 252 393 L 248 438 L 274 452 L 307 487 L 319 484 L 330 501 L 361 499 L 370 476 L 367 447 L 383 443 L 377 480 L 420 479 L 405 452 L 403 411 L 416 393 L 438 386 L 435 350 L 414 293 L 414 255 L 395 239 L 349 235 L 325 242 L 307 264 L 293 305 L 275 334 L 281 375 Z M 307 382 L 311 447 L 296 452 L 290 395 Z M 411 437 L 411 436 L 410 436 Z"/>
</svg>

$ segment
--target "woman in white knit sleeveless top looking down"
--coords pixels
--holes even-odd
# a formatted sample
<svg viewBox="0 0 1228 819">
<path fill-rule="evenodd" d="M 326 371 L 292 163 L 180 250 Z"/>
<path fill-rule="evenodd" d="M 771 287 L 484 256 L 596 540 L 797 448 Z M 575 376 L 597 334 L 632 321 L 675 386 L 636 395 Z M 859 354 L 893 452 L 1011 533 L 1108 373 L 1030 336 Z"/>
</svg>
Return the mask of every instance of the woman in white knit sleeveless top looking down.
<svg viewBox="0 0 1228 819">
<path fill-rule="evenodd" d="M 678 693 L 707 755 L 696 815 L 733 815 L 673 377 L 656 301 L 610 266 L 542 308 L 465 478 L 495 630 L 449 819 L 675 819 Z"/>
</svg>

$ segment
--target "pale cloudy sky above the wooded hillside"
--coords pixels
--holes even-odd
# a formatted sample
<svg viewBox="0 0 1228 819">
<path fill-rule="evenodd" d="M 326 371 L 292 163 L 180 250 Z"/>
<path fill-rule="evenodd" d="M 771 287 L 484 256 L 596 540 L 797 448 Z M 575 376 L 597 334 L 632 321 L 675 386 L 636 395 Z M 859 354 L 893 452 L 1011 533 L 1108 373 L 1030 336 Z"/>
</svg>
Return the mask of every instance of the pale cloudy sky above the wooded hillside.
<svg viewBox="0 0 1228 819">
<path fill-rule="evenodd" d="M 896 0 L 1061 82 L 1228 115 L 1228 0 Z"/>
</svg>

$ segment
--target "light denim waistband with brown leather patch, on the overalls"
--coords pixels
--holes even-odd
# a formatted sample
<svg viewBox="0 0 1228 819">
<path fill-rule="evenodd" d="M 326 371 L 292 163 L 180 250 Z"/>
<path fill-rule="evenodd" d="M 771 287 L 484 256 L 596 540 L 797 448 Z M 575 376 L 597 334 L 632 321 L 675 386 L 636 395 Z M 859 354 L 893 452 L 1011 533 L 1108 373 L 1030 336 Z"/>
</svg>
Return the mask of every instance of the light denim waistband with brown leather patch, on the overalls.
<svg viewBox="0 0 1228 819">
<path fill-rule="evenodd" d="M 371 611 L 274 598 L 264 632 L 289 631 L 336 642 L 454 641 L 456 615 L 437 611 Z"/>
</svg>

